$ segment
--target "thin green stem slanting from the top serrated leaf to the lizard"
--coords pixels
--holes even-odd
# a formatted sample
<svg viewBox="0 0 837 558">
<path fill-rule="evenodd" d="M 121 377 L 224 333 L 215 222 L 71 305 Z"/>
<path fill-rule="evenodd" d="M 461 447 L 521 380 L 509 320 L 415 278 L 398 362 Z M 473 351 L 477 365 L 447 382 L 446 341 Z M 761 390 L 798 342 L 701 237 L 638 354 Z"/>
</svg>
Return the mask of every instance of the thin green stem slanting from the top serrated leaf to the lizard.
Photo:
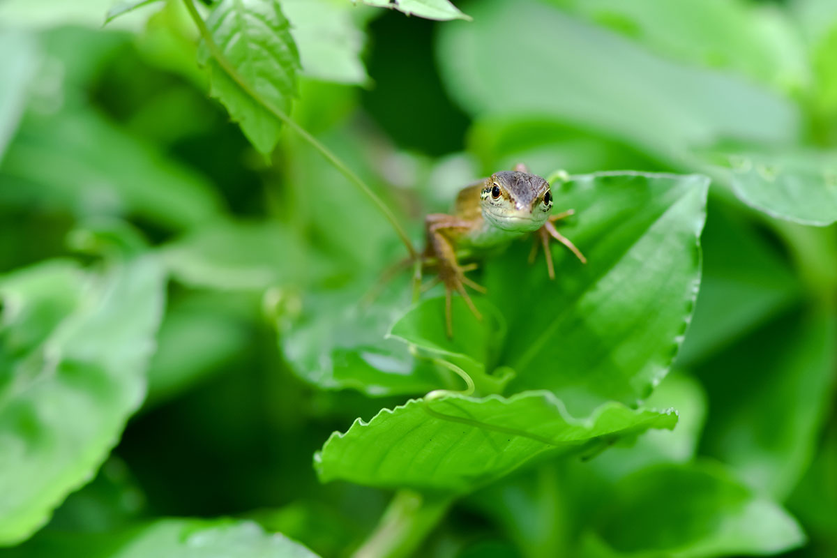
<svg viewBox="0 0 837 558">
<path fill-rule="evenodd" d="M 294 120 L 290 119 L 290 116 L 285 115 L 284 112 L 276 108 L 269 100 L 264 99 L 259 93 L 254 90 L 250 85 L 247 83 L 244 78 L 241 77 L 239 72 L 233 67 L 232 64 L 229 63 L 229 60 L 223 55 L 221 49 L 218 48 L 218 44 L 215 43 L 213 39 L 212 33 L 209 32 L 209 29 L 206 26 L 206 23 L 203 21 L 201 14 L 198 13 L 198 8 L 195 8 L 194 0 L 183 0 L 183 3 L 186 4 L 186 9 L 189 12 L 189 15 L 192 16 L 192 19 L 195 22 L 195 25 L 198 26 L 198 33 L 200 33 L 201 38 L 203 38 L 203 42 L 207 45 L 207 49 L 209 49 L 209 53 L 212 54 L 215 61 L 218 65 L 226 72 L 230 79 L 233 79 L 239 87 L 244 90 L 244 92 L 253 98 L 259 105 L 264 107 L 264 110 L 270 112 L 270 114 L 274 115 L 276 118 L 281 120 L 285 123 L 288 127 L 290 127 L 293 131 L 297 134 L 302 136 L 302 139 L 307 141 L 311 144 L 317 151 L 320 151 L 320 154 L 326 158 L 326 161 L 329 161 L 338 171 L 349 179 L 352 183 L 354 183 L 357 188 L 363 192 L 372 202 L 377 206 L 377 208 L 383 213 L 383 216 L 387 218 L 389 223 L 395 229 L 395 232 L 398 234 L 398 237 L 401 238 L 401 242 L 404 243 L 404 246 L 407 247 L 407 251 L 410 253 L 410 257 L 413 259 L 418 259 L 419 255 L 416 253 L 415 248 L 413 248 L 413 243 L 410 242 L 410 238 L 407 236 L 407 233 L 404 231 L 403 227 L 398 223 L 398 219 L 395 217 L 395 214 L 390 210 L 386 203 L 380 197 L 377 197 L 375 192 L 372 192 L 372 188 L 367 186 L 366 182 L 363 182 L 361 177 L 358 177 L 352 169 L 350 169 L 346 164 L 341 161 L 334 153 L 332 153 L 326 146 L 317 141 L 314 136 L 306 131 L 305 128 L 297 124 Z"/>
</svg>

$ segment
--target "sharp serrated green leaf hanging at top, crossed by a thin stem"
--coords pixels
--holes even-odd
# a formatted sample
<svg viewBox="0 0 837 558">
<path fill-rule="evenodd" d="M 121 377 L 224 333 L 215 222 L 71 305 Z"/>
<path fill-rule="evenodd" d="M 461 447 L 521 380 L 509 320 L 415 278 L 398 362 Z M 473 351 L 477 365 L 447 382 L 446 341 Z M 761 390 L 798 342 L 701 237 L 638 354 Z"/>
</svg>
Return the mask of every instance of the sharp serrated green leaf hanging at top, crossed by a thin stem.
<svg viewBox="0 0 837 558">
<path fill-rule="evenodd" d="M 296 95 L 300 57 L 288 20 L 276 0 L 221 0 L 210 11 L 207 27 L 237 74 L 229 75 L 202 43 L 198 59 L 209 66 L 209 94 L 267 155 L 279 141 L 280 120 L 264 103 L 288 115 Z"/>
</svg>

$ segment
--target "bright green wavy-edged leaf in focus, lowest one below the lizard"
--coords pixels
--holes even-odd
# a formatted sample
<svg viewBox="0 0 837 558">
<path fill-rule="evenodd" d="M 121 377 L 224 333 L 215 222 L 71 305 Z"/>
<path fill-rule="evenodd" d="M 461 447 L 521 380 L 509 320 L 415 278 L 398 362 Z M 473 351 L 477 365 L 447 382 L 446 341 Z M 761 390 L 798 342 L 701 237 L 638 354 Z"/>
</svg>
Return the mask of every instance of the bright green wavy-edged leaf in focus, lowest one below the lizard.
<svg viewBox="0 0 837 558">
<path fill-rule="evenodd" d="M 534 458 L 676 422 L 672 410 L 637 411 L 616 402 L 573 417 L 549 392 L 508 399 L 450 394 L 411 399 L 369 422 L 357 419 L 347 433 L 331 435 L 315 465 L 324 482 L 464 493 Z"/>
</svg>

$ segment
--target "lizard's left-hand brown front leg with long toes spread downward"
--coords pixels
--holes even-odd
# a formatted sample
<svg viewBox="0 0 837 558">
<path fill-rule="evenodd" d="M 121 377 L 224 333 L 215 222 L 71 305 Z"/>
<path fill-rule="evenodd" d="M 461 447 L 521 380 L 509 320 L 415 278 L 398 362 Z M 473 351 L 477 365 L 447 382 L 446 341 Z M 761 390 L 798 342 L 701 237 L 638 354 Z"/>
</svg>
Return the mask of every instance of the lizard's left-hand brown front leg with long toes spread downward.
<svg viewBox="0 0 837 558">
<path fill-rule="evenodd" d="M 427 248 L 424 250 L 424 255 L 425 257 L 436 259 L 439 279 L 444 284 L 444 321 L 448 337 L 453 337 L 454 335 L 450 310 L 451 294 L 453 294 L 454 290 L 462 295 L 462 298 L 465 299 L 465 304 L 468 305 L 468 308 L 476 316 L 477 320 L 482 320 L 480 311 L 476 309 L 474 302 L 470 299 L 467 291 L 465 291 L 465 285 L 467 284 L 472 289 L 479 290 L 480 292 L 485 292 L 485 289 L 465 277 L 465 270 L 457 261 L 456 250 L 454 249 L 455 231 L 457 229 L 470 228 L 473 224 L 471 221 L 445 215 L 444 213 L 431 213 L 424 221 L 427 232 Z"/>
</svg>

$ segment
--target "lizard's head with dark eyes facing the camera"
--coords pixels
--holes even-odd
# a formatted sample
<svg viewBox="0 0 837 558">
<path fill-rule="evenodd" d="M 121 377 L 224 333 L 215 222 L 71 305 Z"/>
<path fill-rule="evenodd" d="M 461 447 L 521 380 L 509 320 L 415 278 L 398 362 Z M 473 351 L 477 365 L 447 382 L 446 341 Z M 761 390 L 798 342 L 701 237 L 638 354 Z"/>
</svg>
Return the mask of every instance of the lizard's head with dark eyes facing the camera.
<svg viewBox="0 0 837 558">
<path fill-rule="evenodd" d="M 552 211 L 549 182 L 520 171 L 495 172 L 480 192 L 483 217 L 496 228 L 527 233 L 537 231 Z"/>
</svg>

